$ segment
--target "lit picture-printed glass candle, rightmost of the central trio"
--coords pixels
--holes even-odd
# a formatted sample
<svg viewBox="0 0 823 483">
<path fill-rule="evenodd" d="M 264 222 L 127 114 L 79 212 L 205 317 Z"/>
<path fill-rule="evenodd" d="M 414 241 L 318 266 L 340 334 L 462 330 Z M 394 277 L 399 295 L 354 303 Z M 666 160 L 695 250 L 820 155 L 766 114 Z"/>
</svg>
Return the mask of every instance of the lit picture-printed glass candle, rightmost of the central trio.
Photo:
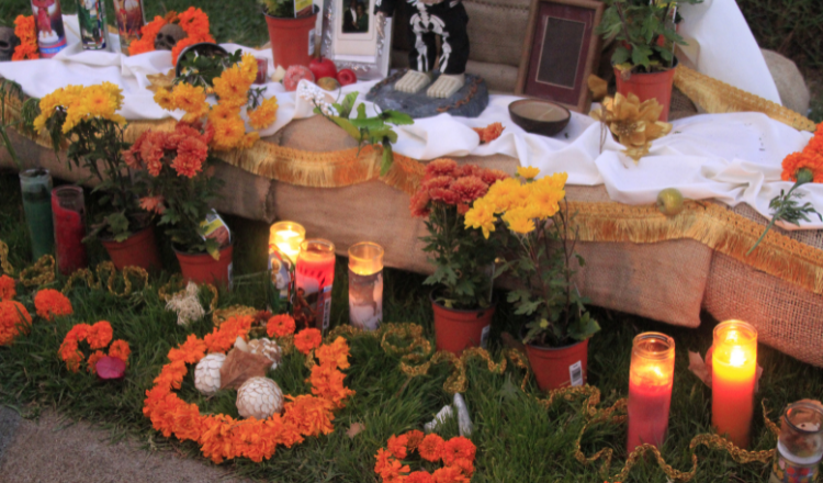
<svg viewBox="0 0 823 483">
<path fill-rule="evenodd" d="M 349 322 L 375 330 L 383 321 L 383 247 L 362 242 L 349 248 Z"/>
</svg>

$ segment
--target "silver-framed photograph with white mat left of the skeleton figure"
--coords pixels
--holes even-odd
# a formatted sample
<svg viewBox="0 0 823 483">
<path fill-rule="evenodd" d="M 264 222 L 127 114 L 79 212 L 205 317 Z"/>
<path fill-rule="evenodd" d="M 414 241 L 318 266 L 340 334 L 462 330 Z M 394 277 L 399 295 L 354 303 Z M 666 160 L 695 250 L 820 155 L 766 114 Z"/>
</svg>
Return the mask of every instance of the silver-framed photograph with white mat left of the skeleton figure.
<svg viewBox="0 0 823 483">
<path fill-rule="evenodd" d="M 376 0 L 324 0 L 320 54 L 360 80 L 388 75 L 392 19 L 381 35 L 374 14 Z"/>
</svg>

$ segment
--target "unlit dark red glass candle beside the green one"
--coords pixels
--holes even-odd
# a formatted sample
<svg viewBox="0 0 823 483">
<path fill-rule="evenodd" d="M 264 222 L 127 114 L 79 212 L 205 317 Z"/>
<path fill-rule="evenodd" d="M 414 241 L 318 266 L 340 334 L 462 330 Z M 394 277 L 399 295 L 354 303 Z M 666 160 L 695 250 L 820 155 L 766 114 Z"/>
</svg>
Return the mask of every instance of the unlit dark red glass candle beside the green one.
<svg viewBox="0 0 823 483">
<path fill-rule="evenodd" d="M 86 255 L 86 206 L 83 190 L 67 186 L 52 190 L 57 269 L 68 276 L 89 266 Z"/>
</svg>

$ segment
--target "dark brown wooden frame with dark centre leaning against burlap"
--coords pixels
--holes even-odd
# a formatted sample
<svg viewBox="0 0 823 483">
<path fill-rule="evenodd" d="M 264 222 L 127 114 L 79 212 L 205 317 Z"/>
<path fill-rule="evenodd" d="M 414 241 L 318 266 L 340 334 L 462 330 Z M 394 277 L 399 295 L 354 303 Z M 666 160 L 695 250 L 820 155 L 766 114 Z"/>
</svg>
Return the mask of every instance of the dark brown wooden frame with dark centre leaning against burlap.
<svg viewBox="0 0 823 483">
<path fill-rule="evenodd" d="M 604 4 L 597 0 L 532 0 L 515 93 L 588 112 L 586 80 L 600 61 Z"/>
</svg>

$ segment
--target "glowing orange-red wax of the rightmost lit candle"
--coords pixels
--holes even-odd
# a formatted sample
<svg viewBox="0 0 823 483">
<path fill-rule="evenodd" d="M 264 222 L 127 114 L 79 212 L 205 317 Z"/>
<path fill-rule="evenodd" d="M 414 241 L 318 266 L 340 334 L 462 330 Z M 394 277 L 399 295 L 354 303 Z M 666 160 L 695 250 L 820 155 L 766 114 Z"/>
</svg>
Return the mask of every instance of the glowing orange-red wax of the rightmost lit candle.
<svg viewBox="0 0 823 483">
<path fill-rule="evenodd" d="M 756 372 L 754 355 L 741 347 L 731 349 L 729 361 L 717 350 L 712 356 L 712 425 L 740 448 L 748 448 Z"/>
</svg>

